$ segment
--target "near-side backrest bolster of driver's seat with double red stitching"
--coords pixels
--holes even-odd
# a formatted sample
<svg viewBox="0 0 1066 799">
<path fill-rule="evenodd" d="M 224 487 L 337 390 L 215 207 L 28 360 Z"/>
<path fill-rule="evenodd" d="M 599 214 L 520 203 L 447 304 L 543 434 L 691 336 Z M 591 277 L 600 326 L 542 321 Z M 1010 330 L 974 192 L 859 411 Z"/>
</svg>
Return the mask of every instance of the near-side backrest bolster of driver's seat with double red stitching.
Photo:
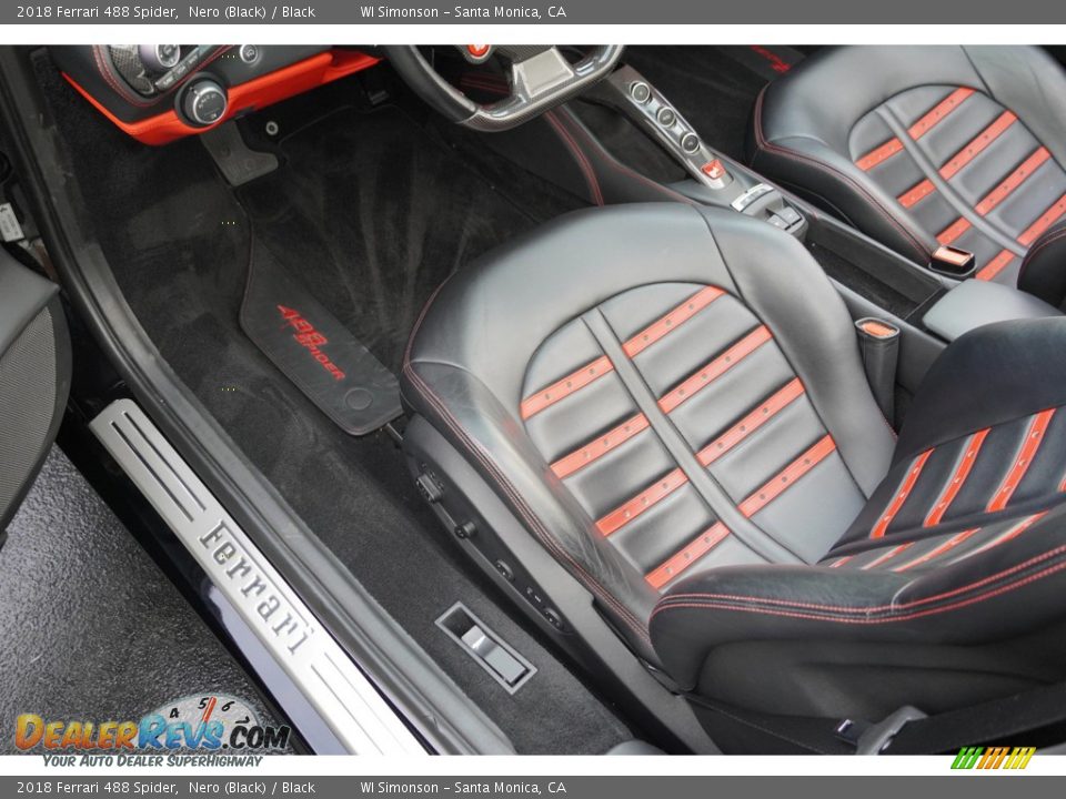
<svg viewBox="0 0 1066 799">
<path fill-rule="evenodd" d="M 695 689 L 712 651 L 744 641 L 811 646 L 967 646 L 1008 640 L 1060 617 L 1066 509 L 1026 535 L 926 572 L 732 567 L 680 581 L 651 619 L 666 671 Z"/>
</svg>

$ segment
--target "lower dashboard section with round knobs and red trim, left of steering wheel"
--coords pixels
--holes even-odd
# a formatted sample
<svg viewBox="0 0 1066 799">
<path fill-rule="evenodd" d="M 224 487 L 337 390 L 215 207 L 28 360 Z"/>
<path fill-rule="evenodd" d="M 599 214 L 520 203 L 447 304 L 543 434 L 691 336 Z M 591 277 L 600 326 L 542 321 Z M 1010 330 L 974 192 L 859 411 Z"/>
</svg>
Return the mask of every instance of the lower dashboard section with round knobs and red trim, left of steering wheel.
<svg viewBox="0 0 1066 799">
<path fill-rule="evenodd" d="M 380 61 L 321 45 L 86 44 L 49 49 L 63 78 L 145 144 L 167 144 Z"/>
</svg>

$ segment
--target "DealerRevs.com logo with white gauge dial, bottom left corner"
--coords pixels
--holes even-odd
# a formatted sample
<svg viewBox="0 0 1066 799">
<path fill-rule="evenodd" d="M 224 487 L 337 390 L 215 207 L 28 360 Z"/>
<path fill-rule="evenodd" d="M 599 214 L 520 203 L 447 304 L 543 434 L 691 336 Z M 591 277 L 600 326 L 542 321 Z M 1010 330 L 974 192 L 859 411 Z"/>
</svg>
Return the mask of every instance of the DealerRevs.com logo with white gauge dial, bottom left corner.
<svg viewBox="0 0 1066 799">
<path fill-rule="evenodd" d="M 14 725 L 16 747 L 46 755 L 49 765 L 63 766 L 77 765 L 87 756 L 97 756 L 98 760 L 99 756 L 110 756 L 107 760 L 112 762 L 103 765 L 143 766 L 162 765 L 164 755 L 177 752 L 276 752 L 289 748 L 289 735 L 286 726 L 260 724 L 243 700 L 218 694 L 183 697 L 138 721 L 54 719 L 26 712 L 16 718 Z M 153 752 L 158 756 L 145 762 L 143 756 Z M 261 758 L 251 759 L 258 763 Z M 224 762 L 241 765 L 238 760 L 227 757 Z M 168 759 L 168 765 L 202 759 Z"/>
</svg>

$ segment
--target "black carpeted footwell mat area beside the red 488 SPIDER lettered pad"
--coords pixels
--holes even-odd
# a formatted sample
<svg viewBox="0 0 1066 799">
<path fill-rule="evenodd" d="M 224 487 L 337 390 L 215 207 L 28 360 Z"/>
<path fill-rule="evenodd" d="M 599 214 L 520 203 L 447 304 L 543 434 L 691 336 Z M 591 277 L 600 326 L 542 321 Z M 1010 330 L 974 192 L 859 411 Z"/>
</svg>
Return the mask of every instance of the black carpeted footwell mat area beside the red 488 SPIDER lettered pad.
<svg viewBox="0 0 1066 799">
<path fill-rule="evenodd" d="M 464 263 L 576 206 L 515 169 L 496 175 L 395 107 L 340 109 L 284 138 L 284 165 L 238 191 L 258 241 L 399 371 L 432 291 Z"/>
</svg>

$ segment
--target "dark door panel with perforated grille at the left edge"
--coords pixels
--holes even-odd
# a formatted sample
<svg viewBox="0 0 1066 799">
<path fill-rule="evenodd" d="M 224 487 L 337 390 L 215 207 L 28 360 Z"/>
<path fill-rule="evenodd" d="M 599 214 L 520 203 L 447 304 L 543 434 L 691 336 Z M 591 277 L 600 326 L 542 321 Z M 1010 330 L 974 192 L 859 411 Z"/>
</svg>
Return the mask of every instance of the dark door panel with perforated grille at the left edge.
<svg viewBox="0 0 1066 799">
<path fill-rule="evenodd" d="M 59 287 L 0 250 L 0 542 L 56 438 L 69 391 Z"/>
</svg>

